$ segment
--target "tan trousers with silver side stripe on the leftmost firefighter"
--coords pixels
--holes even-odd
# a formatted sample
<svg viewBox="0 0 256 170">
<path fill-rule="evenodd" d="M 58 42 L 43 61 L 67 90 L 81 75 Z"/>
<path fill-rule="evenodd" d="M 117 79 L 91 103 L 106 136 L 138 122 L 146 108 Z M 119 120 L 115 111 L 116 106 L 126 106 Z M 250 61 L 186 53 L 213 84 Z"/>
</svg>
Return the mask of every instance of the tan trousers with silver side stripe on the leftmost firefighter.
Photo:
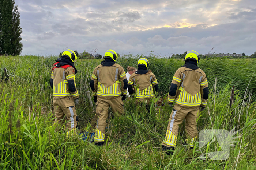
<svg viewBox="0 0 256 170">
<path fill-rule="evenodd" d="M 73 97 L 65 97 L 61 99 L 53 98 L 53 106 L 55 110 L 55 122 L 58 126 L 57 131 L 61 131 L 66 122 L 68 134 L 76 133 L 76 107 Z"/>
</svg>

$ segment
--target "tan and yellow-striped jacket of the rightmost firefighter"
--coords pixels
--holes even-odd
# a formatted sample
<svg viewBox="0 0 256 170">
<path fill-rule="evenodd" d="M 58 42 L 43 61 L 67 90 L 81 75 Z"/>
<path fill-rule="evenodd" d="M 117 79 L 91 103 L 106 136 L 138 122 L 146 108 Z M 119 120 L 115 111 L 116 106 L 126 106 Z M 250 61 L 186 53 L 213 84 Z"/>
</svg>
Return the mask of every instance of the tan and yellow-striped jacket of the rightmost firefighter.
<svg viewBox="0 0 256 170">
<path fill-rule="evenodd" d="M 196 70 L 181 67 L 173 76 L 168 103 L 172 104 L 175 100 L 179 105 L 206 107 L 208 93 L 208 82 L 203 70 L 199 67 Z"/>
</svg>

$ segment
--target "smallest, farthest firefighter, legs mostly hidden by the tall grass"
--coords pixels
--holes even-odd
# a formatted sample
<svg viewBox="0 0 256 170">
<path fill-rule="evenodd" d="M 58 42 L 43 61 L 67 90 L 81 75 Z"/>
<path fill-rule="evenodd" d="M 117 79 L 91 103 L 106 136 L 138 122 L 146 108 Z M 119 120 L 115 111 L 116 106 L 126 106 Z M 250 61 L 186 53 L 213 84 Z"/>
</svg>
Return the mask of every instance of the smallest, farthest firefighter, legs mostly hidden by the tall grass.
<svg viewBox="0 0 256 170">
<path fill-rule="evenodd" d="M 128 81 L 128 92 L 136 98 L 136 103 L 150 103 L 150 99 L 158 90 L 158 83 L 155 75 L 148 71 L 149 62 L 146 58 L 138 61 L 138 70 L 133 73 Z M 133 90 L 135 88 L 135 91 Z"/>
</svg>

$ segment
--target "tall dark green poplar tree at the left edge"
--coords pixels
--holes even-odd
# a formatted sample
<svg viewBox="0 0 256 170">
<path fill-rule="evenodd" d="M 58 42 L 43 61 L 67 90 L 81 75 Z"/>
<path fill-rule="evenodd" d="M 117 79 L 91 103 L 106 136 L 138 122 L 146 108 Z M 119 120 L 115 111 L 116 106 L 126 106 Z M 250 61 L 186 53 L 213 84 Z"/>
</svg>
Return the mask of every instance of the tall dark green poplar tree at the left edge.
<svg viewBox="0 0 256 170">
<path fill-rule="evenodd" d="M 20 55 L 20 13 L 14 0 L 0 0 L 0 55 Z"/>
</svg>

